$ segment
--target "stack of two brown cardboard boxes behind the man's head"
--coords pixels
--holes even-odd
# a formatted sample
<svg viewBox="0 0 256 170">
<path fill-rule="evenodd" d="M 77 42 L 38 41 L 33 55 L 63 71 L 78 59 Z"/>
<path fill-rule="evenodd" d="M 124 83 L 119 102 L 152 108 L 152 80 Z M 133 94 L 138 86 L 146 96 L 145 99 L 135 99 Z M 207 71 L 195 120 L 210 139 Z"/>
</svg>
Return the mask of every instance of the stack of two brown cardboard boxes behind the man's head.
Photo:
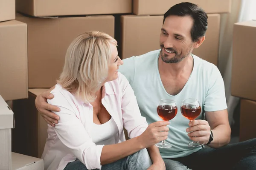
<svg viewBox="0 0 256 170">
<path fill-rule="evenodd" d="M 134 0 L 133 13 L 121 17 L 122 58 L 145 54 L 160 49 L 160 32 L 163 14 L 177 3 L 186 0 Z M 206 40 L 193 54 L 213 64 L 218 64 L 220 13 L 228 13 L 231 0 L 189 0 L 198 4 L 208 14 Z M 220 5 L 221 4 L 221 5 Z"/>
</svg>

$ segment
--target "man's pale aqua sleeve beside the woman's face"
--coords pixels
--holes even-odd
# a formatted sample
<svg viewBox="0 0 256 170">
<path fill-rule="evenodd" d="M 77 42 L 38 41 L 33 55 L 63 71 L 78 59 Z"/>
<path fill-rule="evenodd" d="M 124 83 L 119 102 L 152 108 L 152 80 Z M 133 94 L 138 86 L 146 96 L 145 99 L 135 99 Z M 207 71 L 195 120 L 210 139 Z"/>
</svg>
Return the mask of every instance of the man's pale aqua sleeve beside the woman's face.
<svg viewBox="0 0 256 170">
<path fill-rule="evenodd" d="M 123 59 L 122 61 L 124 63 L 123 65 L 119 66 L 118 71 L 122 73 L 130 83 L 130 85 L 132 85 L 132 83 L 134 82 L 134 74 L 135 74 L 135 66 L 134 66 L 135 57 Z"/>
</svg>

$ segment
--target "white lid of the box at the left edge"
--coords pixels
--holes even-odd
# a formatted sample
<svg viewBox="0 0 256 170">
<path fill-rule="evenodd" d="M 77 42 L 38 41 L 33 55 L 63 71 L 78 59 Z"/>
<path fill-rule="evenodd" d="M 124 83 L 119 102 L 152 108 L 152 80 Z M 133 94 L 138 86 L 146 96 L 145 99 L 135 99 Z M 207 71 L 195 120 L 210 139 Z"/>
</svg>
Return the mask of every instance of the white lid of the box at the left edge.
<svg viewBox="0 0 256 170">
<path fill-rule="evenodd" d="M 14 113 L 0 95 L 0 129 L 14 128 Z"/>
</svg>

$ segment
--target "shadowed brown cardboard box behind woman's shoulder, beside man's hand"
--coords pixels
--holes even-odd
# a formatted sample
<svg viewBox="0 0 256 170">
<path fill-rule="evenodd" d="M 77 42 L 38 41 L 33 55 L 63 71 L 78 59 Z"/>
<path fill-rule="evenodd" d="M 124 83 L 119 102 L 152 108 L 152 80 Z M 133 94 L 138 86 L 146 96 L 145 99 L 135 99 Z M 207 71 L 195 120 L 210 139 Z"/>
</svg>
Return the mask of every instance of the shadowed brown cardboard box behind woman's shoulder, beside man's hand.
<svg viewBox="0 0 256 170">
<path fill-rule="evenodd" d="M 13 101 L 16 128 L 12 131 L 12 152 L 41 158 L 48 137 L 48 126 L 35 108 L 35 98 L 47 90 L 29 89 L 28 99 Z"/>
</svg>

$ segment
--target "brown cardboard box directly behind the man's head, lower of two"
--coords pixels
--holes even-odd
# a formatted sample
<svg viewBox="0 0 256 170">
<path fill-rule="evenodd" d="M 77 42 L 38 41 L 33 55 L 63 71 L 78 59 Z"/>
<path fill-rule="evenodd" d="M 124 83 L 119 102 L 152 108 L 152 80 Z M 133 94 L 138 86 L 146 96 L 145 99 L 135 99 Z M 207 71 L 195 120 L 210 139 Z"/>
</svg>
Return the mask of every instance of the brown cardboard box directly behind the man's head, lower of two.
<svg viewBox="0 0 256 170">
<path fill-rule="evenodd" d="M 121 23 L 123 59 L 160 49 L 159 38 L 163 16 L 123 15 Z M 217 65 L 219 32 L 220 14 L 209 14 L 206 40 L 198 49 L 194 49 L 192 54 Z"/>
</svg>

